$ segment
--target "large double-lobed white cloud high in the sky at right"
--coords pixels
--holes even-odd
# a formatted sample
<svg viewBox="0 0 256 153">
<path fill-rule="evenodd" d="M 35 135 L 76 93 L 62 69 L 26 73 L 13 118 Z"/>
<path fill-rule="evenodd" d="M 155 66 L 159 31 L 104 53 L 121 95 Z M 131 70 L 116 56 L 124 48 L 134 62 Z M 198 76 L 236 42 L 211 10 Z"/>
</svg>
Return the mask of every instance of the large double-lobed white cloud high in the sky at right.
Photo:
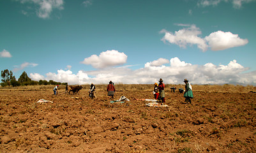
<svg viewBox="0 0 256 153">
<path fill-rule="evenodd" d="M 211 50 L 225 50 L 232 47 L 239 47 L 248 43 L 247 39 L 239 38 L 238 34 L 232 34 L 230 32 L 216 31 L 205 38 L 199 37 L 201 31 L 195 25 L 184 25 L 185 28 L 176 31 L 174 34 L 169 31 L 162 30 L 161 33 L 165 33 L 162 41 L 179 45 L 181 48 L 186 48 L 187 45 L 197 45 L 197 47 L 205 52 L 208 48 Z"/>
</svg>

